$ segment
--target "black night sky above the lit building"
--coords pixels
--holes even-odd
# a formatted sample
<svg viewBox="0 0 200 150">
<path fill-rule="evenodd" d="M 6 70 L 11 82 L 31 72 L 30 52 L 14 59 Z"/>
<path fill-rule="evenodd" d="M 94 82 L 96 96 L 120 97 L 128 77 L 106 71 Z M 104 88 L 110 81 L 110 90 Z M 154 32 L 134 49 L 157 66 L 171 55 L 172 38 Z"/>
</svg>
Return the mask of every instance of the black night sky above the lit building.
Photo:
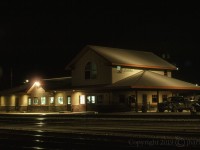
<svg viewBox="0 0 200 150">
<path fill-rule="evenodd" d="M 1 2 L 2 3 L 2 2 Z M 24 1 L 0 5 L 0 88 L 27 78 L 66 76 L 87 44 L 168 53 L 175 77 L 200 84 L 197 3 Z"/>
</svg>

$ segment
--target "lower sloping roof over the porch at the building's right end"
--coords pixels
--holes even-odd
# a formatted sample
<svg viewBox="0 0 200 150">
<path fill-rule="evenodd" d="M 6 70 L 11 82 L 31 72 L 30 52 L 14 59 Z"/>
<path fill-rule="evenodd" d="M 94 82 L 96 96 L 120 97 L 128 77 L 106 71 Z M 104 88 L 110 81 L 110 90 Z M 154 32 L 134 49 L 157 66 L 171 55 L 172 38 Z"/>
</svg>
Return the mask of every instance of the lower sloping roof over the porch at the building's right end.
<svg viewBox="0 0 200 150">
<path fill-rule="evenodd" d="M 170 78 L 151 71 L 141 71 L 110 85 L 112 88 L 200 90 L 195 84 Z"/>
</svg>

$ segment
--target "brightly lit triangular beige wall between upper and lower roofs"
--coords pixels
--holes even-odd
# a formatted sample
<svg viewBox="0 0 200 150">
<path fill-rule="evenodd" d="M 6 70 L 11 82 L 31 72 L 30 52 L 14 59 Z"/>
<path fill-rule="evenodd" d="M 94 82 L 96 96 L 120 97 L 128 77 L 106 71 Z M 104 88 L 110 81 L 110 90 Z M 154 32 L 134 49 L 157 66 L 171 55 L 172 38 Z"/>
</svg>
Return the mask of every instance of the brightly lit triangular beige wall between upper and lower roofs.
<svg viewBox="0 0 200 150">
<path fill-rule="evenodd" d="M 122 68 L 121 71 L 117 70 L 117 67 L 112 68 L 112 83 L 115 83 L 119 80 L 127 78 L 131 75 L 134 75 L 142 70 L 131 69 L 131 68 Z"/>
</svg>

